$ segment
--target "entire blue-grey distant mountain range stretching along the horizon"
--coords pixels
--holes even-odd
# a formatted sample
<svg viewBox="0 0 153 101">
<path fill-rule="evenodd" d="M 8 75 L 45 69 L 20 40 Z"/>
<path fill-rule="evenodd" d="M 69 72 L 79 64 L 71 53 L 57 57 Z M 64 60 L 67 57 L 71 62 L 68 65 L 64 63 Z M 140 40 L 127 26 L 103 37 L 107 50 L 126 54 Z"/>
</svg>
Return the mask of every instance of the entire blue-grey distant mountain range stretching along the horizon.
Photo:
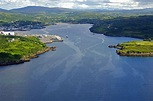
<svg viewBox="0 0 153 101">
<path fill-rule="evenodd" d="M 1 9 L 0 9 L 1 11 Z M 3 10 L 2 11 L 7 11 Z M 123 10 L 123 9 L 67 9 L 67 8 L 49 8 L 49 7 L 42 7 L 42 6 L 27 6 L 23 8 L 17 8 L 9 10 L 9 12 L 15 13 L 72 13 L 72 12 L 122 12 L 122 13 L 153 13 L 153 8 L 147 9 L 133 9 L 133 10 Z"/>
</svg>

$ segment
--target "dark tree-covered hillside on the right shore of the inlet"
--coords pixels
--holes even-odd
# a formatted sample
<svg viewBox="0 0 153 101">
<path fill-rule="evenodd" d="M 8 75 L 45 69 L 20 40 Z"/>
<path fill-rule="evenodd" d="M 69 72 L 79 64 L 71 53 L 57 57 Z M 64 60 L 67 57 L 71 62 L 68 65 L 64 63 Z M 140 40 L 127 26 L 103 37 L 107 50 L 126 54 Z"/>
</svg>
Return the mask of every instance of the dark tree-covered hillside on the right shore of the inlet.
<svg viewBox="0 0 153 101">
<path fill-rule="evenodd" d="M 119 17 L 101 20 L 94 23 L 90 30 L 108 36 L 153 39 L 153 16 Z"/>
</svg>

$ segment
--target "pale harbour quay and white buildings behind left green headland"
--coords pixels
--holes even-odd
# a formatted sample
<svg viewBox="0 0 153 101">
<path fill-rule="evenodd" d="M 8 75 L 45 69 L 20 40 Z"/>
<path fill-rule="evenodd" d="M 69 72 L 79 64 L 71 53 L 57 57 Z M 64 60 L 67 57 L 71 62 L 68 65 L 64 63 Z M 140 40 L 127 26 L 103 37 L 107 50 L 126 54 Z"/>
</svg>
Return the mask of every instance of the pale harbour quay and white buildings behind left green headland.
<svg viewBox="0 0 153 101">
<path fill-rule="evenodd" d="M 58 36 L 58 35 L 47 35 L 47 34 L 19 34 L 15 33 L 13 31 L 0 31 L 0 35 L 8 35 L 8 36 L 22 36 L 22 37 L 27 37 L 27 36 L 35 36 L 37 37 L 41 42 L 45 44 L 49 44 L 52 42 L 63 42 L 63 39 Z M 14 38 L 12 40 L 8 40 L 9 42 L 15 41 Z"/>
</svg>

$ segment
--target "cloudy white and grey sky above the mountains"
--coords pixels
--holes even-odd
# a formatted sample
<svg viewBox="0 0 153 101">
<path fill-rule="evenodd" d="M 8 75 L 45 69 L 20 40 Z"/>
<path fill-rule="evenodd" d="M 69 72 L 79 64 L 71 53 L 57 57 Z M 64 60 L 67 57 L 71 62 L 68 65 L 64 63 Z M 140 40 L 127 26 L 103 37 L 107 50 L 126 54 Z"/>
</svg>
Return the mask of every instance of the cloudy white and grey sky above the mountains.
<svg viewBox="0 0 153 101">
<path fill-rule="evenodd" d="M 73 9 L 141 9 L 153 7 L 153 0 L 0 0 L 0 8 L 3 9 L 25 6 Z"/>
</svg>

